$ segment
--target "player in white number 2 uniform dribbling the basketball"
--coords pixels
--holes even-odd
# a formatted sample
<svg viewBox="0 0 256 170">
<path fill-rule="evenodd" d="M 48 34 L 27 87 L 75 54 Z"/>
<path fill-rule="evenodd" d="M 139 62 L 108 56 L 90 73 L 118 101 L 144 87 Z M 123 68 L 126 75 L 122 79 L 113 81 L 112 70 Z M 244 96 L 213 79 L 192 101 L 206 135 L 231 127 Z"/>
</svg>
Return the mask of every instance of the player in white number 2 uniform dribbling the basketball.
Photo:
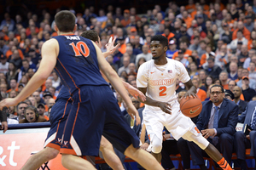
<svg viewBox="0 0 256 170">
<path fill-rule="evenodd" d="M 190 80 L 184 65 L 174 59 L 166 58 L 168 40 L 156 35 L 151 38 L 150 50 L 153 58 L 140 66 L 137 73 L 137 87 L 146 94 L 143 120 L 146 125 L 152 155 L 161 161 L 162 130 L 165 126 L 172 136 L 187 139 L 198 144 L 223 169 L 231 169 L 218 150 L 205 139 L 195 124 L 184 116 L 176 98 L 176 79 L 188 88 L 184 97 L 195 96 L 196 88 Z M 206 134 L 207 135 L 207 134 Z M 205 136 L 207 138 L 207 136 Z"/>
</svg>

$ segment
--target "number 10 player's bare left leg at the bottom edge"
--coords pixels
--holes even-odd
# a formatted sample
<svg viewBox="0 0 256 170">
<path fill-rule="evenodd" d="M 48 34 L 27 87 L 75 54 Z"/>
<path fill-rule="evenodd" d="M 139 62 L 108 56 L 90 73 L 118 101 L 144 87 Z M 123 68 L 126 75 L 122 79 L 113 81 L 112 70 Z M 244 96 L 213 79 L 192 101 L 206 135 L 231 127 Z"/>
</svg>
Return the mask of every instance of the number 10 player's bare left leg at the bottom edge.
<svg viewBox="0 0 256 170">
<path fill-rule="evenodd" d="M 76 170 L 90 170 L 96 169 L 89 161 L 80 158 L 79 156 L 73 156 L 68 154 L 62 154 L 61 163 L 63 167 L 67 169 L 76 169 Z"/>
</svg>

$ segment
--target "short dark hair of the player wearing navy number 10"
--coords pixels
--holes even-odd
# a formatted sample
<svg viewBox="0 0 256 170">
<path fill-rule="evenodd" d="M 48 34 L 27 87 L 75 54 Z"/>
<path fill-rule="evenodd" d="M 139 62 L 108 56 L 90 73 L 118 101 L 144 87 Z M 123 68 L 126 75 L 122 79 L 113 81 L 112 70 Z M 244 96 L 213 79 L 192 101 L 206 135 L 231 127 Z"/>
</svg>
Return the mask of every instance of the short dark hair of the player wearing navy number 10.
<svg viewBox="0 0 256 170">
<path fill-rule="evenodd" d="M 55 14 L 55 25 L 60 31 L 73 31 L 75 24 L 76 17 L 72 12 L 68 10 L 62 10 Z"/>
</svg>

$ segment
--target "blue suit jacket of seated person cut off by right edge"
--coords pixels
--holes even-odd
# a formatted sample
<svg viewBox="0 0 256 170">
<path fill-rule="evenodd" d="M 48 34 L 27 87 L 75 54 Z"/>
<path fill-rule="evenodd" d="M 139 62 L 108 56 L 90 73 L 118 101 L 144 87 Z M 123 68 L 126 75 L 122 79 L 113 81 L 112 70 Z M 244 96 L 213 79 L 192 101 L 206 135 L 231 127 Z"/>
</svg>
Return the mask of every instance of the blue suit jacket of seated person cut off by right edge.
<svg viewBox="0 0 256 170">
<path fill-rule="evenodd" d="M 243 128 L 244 128 L 245 124 L 247 124 L 249 126 L 251 125 L 252 116 L 253 116 L 253 113 L 254 113 L 255 106 L 256 106 L 256 101 L 250 101 L 247 104 L 246 111 L 242 112 L 241 116 L 238 116 L 238 122 L 243 122 L 244 123 Z"/>
</svg>

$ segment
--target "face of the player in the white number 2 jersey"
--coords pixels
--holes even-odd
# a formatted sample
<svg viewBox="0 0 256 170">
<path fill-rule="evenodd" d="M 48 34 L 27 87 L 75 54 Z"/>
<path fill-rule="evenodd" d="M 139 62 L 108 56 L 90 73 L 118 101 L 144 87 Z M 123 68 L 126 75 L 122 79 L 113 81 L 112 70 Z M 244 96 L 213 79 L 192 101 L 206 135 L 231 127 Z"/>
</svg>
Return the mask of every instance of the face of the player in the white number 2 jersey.
<svg viewBox="0 0 256 170">
<path fill-rule="evenodd" d="M 167 47 L 165 47 L 167 48 Z M 160 41 L 152 41 L 150 43 L 150 50 L 152 54 L 152 59 L 159 59 L 163 54 L 166 54 L 166 49 L 160 44 Z"/>
</svg>

